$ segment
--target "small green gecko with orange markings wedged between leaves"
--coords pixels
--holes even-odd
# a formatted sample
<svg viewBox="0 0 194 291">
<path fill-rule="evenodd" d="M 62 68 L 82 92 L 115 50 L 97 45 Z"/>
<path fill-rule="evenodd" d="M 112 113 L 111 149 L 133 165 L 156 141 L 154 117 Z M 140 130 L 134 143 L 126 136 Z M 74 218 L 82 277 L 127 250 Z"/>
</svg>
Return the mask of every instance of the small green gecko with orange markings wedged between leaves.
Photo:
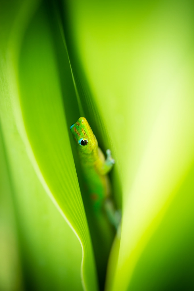
<svg viewBox="0 0 194 291">
<path fill-rule="evenodd" d="M 86 118 L 80 117 L 76 123 L 72 124 L 70 130 L 77 142 L 83 178 L 93 211 L 97 217 L 105 211 L 108 220 L 117 229 L 120 214 L 115 211 L 110 198 L 110 182 L 107 176 L 115 164 L 111 151 L 106 150 L 107 158 L 105 159 Z"/>
</svg>

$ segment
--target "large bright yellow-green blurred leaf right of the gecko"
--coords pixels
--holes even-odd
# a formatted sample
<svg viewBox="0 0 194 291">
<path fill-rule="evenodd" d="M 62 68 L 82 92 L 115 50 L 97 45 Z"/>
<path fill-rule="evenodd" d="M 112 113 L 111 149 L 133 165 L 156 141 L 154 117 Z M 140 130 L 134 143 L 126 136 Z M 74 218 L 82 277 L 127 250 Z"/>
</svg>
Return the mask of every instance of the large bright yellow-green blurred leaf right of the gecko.
<svg viewBox="0 0 194 291">
<path fill-rule="evenodd" d="M 116 272 L 107 290 L 127 290 L 194 159 L 193 3 L 64 2 L 80 96 L 113 150 L 113 180 L 123 193 L 120 248 L 111 252 Z M 135 278 L 133 286 L 140 273 Z"/>
</svg>

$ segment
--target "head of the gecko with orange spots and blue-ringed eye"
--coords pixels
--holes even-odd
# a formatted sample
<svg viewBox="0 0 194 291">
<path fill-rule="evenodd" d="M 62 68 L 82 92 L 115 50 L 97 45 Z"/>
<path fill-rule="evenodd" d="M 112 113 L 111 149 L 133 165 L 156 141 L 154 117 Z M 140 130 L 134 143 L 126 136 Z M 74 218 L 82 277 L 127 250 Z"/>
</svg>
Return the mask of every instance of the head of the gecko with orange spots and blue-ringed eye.
<svg viewBox="0 0 194 291">
<path fill-rule="evenodd" d="M 83 151 L 91 152 L 98 146 L 96 137 L 85 117 L 80 117 L 76 123 L 72 124 L 70 130 Z"/>
</svg>

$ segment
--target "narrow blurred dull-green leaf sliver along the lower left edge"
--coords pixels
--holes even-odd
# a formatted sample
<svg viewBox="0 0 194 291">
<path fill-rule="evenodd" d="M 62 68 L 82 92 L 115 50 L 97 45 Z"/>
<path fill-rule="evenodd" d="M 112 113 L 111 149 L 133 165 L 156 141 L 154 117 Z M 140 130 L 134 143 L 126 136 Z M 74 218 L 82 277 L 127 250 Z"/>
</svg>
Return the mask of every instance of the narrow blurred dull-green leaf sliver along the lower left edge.
<svg viewBox="0 0 194 291">
<path fill-rule="evenodd" d="M 19 258 L 13 193 L 0 128 L 0 290 L 21 291 L 22 272 Z"/>
</svg>

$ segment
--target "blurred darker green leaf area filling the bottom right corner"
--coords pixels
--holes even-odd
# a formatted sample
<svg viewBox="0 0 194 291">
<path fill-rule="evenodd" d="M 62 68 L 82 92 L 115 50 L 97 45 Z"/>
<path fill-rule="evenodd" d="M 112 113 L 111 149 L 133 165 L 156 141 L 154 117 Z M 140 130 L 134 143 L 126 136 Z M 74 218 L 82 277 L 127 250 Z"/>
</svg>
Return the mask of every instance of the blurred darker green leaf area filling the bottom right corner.
<svg viewBox="0 0 194 291">
<path fill-rule="evenodd" d="M 193 290 L 193 177 L 192 166 L 175 198 L 167 201 L 166 213 L 143 250 L 127 290 Z"/>
</svg>

